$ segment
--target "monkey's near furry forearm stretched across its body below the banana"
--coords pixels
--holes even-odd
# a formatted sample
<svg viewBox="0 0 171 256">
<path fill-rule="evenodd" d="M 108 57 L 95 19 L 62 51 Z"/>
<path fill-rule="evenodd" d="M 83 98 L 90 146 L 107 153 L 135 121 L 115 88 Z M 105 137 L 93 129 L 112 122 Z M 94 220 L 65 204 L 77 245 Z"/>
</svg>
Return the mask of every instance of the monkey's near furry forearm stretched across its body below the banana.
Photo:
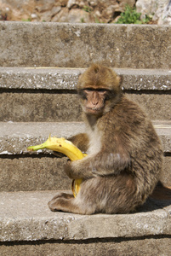
<svg viewBox="0 0 171 256">
<path fill-rule="evenodd" d="M 65 171 L 71 178 L 88 178 L 118 174 L 130 164 L 128 154 L 108 153 L 102 150 L 95 155 L 88 155 L 83 160 L 67 163 Z"/>
</svg>

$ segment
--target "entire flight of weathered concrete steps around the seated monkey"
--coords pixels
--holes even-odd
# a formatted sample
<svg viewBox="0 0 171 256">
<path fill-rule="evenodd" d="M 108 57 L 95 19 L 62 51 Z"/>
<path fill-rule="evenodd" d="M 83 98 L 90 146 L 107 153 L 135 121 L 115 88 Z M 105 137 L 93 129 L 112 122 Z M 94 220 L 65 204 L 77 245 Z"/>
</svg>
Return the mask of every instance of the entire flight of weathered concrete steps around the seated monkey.
<svg viewBox="0 0 171 256">
<path fill-rule="evenodd" d="M 26 147 L 83 131 L 77 77 L 100 61 L 155 120 L 171 186 L 171 27 L 0 21 L 0 33 L 0 254 L 170 255 L 169 188 L 134 214 L 50 212 L 53 189 L 71 187 L 66 158 Z"/>
</svg>

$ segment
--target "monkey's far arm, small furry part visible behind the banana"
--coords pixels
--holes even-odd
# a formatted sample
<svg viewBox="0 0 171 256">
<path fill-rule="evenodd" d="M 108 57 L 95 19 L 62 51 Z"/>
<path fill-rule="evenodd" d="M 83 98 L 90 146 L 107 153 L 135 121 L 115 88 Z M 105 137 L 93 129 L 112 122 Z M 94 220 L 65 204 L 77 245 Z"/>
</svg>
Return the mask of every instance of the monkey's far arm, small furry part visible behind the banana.
<svg viewBox="0 0 171 256">
<path fill-rule="evenodd" d="M 88 135 L 86 133 L 79 133 L 75 136 L 68 138 L 71 143 L 77 146 L 81 151 L 86 152 L 88 150 Z"/>
</svg>

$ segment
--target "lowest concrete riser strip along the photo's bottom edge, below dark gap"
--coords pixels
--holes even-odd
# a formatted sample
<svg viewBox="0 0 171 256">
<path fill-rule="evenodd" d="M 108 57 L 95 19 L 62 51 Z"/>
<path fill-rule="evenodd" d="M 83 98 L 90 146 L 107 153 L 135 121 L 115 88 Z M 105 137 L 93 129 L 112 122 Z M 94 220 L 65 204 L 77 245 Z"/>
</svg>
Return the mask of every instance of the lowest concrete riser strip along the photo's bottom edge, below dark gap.
<svg viewBox="0 0 171 256">
<path fill-rule="evenodd" d="M 1 255 L 25 256 L 170 256 L 170 236 L 88 241 L 31 241 L 0 243 Z"/>
</svg>

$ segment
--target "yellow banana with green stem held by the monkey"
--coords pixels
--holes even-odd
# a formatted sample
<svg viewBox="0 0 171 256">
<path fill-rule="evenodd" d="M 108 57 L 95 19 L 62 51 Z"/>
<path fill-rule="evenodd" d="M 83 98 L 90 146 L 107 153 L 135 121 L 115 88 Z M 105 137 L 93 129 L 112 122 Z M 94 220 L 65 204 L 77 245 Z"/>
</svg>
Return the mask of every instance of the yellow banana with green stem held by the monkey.
<svg viewBox="0 0 171 256">
<path fill-rule="evenodd" d="M 38 149 L 48 148 L 63 154 L 66 154 L 67 157 L 71 161 L 83 159 L 86 154 L 83 154 L 80 149 L 78 149 L 73 143 L 66 140 L 64 137 L 51 137 L 49 135 L 48 140 L 40 145 L 28 147 L 29 151 L 36 151 Z M 71 183 L 71 189 L 74 197 L 76 197 L 77 193 L 80 189 L 80 184 L 82 183 L 82 179 L 75 179 Z"/>
</svg>

